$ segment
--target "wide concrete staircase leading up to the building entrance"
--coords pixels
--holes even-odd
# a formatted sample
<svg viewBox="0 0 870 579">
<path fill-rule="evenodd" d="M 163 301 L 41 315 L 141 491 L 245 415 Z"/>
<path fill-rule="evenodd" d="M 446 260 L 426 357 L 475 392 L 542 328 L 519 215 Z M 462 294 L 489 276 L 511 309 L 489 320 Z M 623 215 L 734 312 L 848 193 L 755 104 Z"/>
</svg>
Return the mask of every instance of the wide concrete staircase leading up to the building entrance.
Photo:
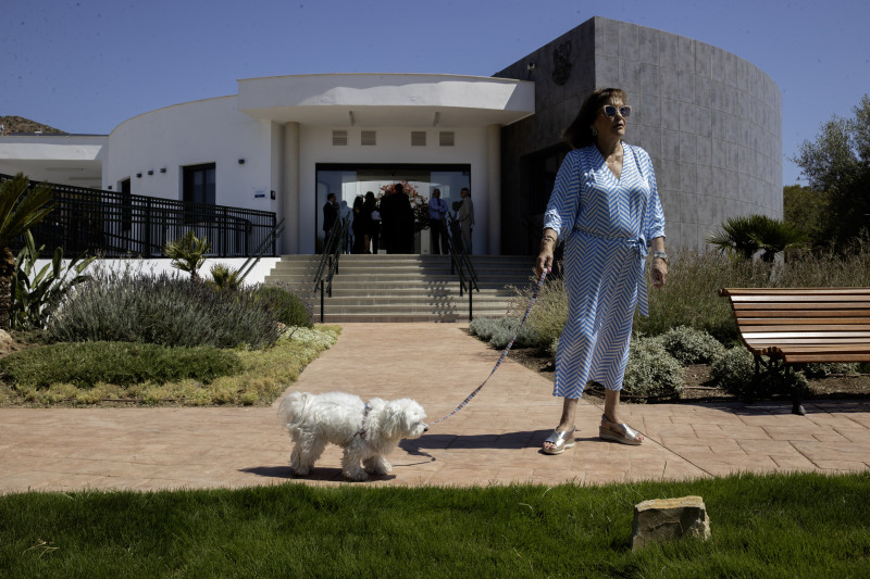
<svg viewBox="0 0 870 579">
<path fill-rule="evenodd" d="M 265 284 L 286 285 L 314 306 L 321 319 L 314 273 L 320 255 L 284 255 Z M 472 256 L 481 291 L 472 295 L 474 317 L 502 316 L 513 291 L 530 284 L 534 259 L 525 255 Z M 459 276 L 448 255 L 341 255 L 333 294 L 324 298 L 326 324 L 345 322 L 465 322 L 469 294 L 459 295 Z"/>
</svg>

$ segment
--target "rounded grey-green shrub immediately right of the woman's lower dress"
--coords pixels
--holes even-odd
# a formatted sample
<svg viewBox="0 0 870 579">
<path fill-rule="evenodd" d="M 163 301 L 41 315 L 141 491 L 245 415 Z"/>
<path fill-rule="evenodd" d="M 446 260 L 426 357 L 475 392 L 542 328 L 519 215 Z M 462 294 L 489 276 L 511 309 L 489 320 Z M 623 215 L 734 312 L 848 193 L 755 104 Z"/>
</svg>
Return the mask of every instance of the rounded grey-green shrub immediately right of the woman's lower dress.
<svg viewBox="0 0 870 579">
<path fill-rule="evenodd" d="M 625 394 L 638 398 L 675 398 L 683 392 L 683 367 L 658 338 L 634 338 L 622 381 Z"/>
</svg>

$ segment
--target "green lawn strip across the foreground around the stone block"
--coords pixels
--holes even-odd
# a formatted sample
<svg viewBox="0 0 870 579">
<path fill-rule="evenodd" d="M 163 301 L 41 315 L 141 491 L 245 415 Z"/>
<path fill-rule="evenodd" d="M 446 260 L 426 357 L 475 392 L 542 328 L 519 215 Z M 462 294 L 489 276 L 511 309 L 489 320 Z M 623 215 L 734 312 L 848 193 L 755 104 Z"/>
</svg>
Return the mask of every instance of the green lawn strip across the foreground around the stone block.
<svg viewBox="0 0 870 579">
<path fill-rule="evenodd" d="M 699 494 L 709 541 L 630 547 L 633 506 Z M 4 577 L 868 577 L 870 474 L 605 487 L 0 496 Z"/>
</svg>

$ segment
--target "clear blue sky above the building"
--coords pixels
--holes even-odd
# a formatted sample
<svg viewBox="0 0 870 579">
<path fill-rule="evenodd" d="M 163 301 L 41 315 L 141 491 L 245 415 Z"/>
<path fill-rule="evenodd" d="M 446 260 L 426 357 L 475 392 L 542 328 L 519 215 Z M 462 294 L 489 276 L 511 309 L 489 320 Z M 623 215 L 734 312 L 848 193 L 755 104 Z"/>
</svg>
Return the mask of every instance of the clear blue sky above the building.
<svg viewBox="0 0 870 579">
<path fill-rule="evenodd" d="M 592 16 L 722 48 L 783 95 L 790 158 L 870 92 L 867 0 L 0 0 L 0 115 L 109 134 L 138 114 L 312 73 L 489 76 Z"/>
</svg>

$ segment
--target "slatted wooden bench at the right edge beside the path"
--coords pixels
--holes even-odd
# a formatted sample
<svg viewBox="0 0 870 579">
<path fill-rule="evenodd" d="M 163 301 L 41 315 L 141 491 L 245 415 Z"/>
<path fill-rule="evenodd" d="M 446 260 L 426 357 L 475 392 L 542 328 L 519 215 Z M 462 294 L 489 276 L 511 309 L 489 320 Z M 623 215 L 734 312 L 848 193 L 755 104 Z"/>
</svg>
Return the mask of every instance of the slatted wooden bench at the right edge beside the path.
<svg viewBox="0 0 870 579">
<path fill-rule="evenodd" d="M 724 288 L 741 339 L 768 372 L 795 364 L 870 362 L 870 288 Z M 767 356 L 768 362 L 761 356 Z M 799 389 L 794 414 L 804 415 Z"/>
</svg>

